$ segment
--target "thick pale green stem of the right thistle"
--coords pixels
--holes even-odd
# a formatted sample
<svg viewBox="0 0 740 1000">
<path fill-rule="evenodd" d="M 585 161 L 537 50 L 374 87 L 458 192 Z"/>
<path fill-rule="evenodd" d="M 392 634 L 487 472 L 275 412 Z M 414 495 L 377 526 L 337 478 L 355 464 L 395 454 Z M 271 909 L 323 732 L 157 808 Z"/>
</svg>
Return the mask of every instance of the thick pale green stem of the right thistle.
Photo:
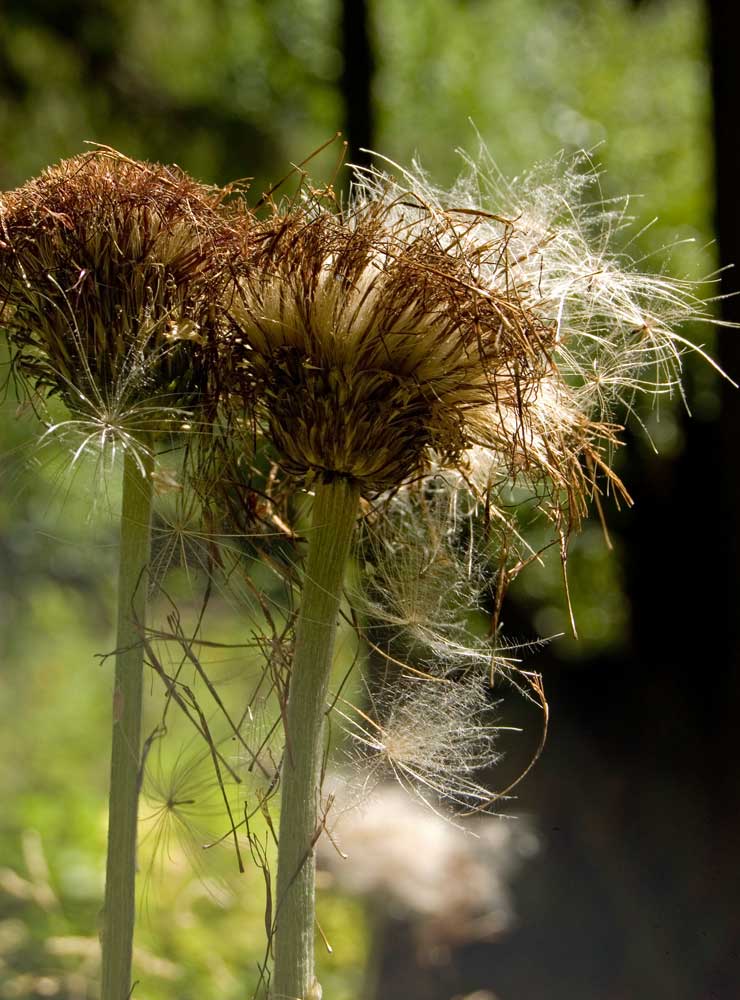
<svg viewBox="0 0 740 1000">
<path fill-rule="evenodd" d="M 315 1000 L 321 995 L 314 973 L 313 848 L 320 824 L 324 716 L 337 615 L 358 509 L 355 484 L 336 479 L 316 488 L 280 776 L 275 1000 Z"/>
</svg>

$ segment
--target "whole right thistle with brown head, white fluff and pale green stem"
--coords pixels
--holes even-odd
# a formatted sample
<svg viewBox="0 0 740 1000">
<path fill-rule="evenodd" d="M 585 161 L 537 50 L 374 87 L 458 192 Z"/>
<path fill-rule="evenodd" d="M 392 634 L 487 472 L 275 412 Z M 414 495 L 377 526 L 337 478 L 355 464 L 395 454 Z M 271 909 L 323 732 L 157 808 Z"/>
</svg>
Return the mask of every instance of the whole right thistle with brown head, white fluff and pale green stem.
<svg viewBox="0 0 740 1000">
<path fill-rule="evenodd" d="M 536 178 L 506 186 L 471 167 L 449 194 L 417 169 L 396 178 L 365 171 L 346 206 L 312 193 L 251 227 L 245 241 L 224 379 L 237 420 L 256 422 L 282 469 L 313 496 L 280 779 L 272 994 L 281 1000 L 321 993 L 313 933 L 324 718 L 361 513 L 375 511 L 370 518 L 381 523 L 389 504 L 432 480 L 451 512 L 463 493 L 472 496 L 506 539 L 500 607 L 506 583 L 536 555 L 521 542 L 512 506 L 532 498 L 564 557 L 591 496 L 626 496 L 609 467 L 619 431 L 612 407 L 676 382 L 687 342 L 674 326 L 697 312 L 697 299 L 690 285 L 639 275 L 611 253 L 621 216 L 579 201 L 586 184 L 577 165 L 549 187 Z M 417 529 L 406 523 L 411 550 Z M 410 576 L 418 586 L 420 573 Z M 394 586 L 402 604 L 408 594 Z M 448 708 L 459 702 L 476 716 L 481 688 L 468 671 L 506 666 L 497 627 L 484 650 L 454 614 L 436 633 L 418 611 L 393 614 L 428 646 L 417 674 L 434 669 L 444 649 L 445 666 L 429 681 L 453 685 Z M 454 654 L 462 678 L 450 669 Z M 442 786 L 452 787 L 458 806 L 480 804 L 464 765 L 457 784 L 448 773 L 447 761 L 459 766 L 464 755 L 462 727 L 442 726 L 434 747 L 435 726 L 412 725 L 413 711 L 436 722 L 445 711 L 423 682 L 423 694 L 411 690 L 417 681 L 397 678 L 388 689 L 395 703 L 384 691 L 384 722 L 350 713 L 350 728 L 402 781 L 413 774 L 442 797 Z M 490 727 L 475 730 L 471 770 L 492 762 L 490 737 Z"/>
</svg>

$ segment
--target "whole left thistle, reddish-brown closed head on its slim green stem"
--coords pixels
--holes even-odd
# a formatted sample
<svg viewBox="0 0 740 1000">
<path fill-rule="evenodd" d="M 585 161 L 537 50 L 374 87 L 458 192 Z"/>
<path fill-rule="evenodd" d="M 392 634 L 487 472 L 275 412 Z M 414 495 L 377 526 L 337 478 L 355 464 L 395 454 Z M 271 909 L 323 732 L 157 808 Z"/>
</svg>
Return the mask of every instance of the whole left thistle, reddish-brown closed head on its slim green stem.
<svg viewBox="0 0 740 1000">
<path fill-rule="evenodd" d="M 142 635 L 155 442 L 203 407 L 227 245 L 222 193 L 100 149 L 0 198 L 0 308 L 11 372 L 73 462 L 123 454 L 104 1000 L 131 986 Z M 196 418 L 197 422 L 197 418 Z"/>
</svg>

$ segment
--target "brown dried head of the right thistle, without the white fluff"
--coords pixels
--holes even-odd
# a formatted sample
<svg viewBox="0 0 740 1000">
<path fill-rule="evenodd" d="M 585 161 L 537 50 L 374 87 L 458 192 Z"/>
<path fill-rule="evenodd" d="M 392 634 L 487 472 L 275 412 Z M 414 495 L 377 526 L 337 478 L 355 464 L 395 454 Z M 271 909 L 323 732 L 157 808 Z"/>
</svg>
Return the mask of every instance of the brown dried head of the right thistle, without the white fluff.
<svg viewBox="0 0 740 1000">
<path fill-rule="evenodd" d="M 346 476 L 373 493 L 432 453 L 456 463 L 483 409 L 526 421 L 554 323 L 481 285 L 482 262 L 505 261 L 505 235 L 470 253 L 447 219 L 427 221 L 409 227 L 359 198 L 346 215 L 313 204 L 250 230 L 227 346 L 296 476 Z"/>
</svg>

